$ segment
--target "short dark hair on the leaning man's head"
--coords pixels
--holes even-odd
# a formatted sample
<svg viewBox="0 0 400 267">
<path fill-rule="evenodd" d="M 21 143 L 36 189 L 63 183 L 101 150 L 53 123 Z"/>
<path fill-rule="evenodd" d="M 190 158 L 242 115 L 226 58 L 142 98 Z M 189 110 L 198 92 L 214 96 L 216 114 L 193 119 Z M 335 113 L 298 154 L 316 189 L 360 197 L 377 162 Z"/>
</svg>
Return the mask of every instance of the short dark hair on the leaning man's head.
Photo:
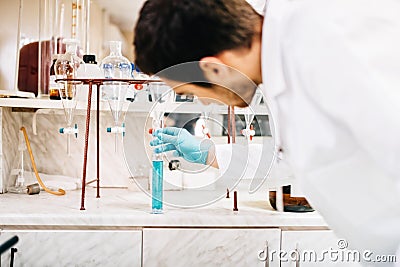
<svg viewBox="0 0 400 267">
<path fill-rule="evenodd" d="M 250 48 L 258 18 L 245 0 L 148 0 L 135 27 L 136 64 L 147 74 L 157 74 L 224 50 Z M 167 71 L 160 76 L 204 79 L 198 64 L 193 65 L 197 69 L 186 69 L 186 75 Z"/>
</svg>

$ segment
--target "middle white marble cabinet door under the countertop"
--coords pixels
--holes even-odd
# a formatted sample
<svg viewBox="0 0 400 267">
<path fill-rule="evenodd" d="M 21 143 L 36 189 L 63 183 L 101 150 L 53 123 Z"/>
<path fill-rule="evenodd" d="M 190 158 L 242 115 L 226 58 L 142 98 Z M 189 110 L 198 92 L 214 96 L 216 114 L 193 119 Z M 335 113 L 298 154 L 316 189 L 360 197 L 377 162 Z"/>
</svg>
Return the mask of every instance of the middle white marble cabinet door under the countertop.
<svg viewBox="0 0 400 267">
<path fill-rule="evenodd" d="M 279 266 L 279 246 L 279 229 L 143 229 L 143 266 Z"/>
</svg>

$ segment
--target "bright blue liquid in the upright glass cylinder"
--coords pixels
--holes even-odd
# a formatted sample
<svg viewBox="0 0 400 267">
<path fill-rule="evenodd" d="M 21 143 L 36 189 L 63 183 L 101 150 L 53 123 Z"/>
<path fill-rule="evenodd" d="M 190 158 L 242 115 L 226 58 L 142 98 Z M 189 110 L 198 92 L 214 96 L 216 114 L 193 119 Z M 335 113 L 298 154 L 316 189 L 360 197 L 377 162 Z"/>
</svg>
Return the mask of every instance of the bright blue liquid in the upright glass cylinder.
<svg viewBox="0 0 400 267">
<path fill-rule="evenodd" d="M 153 175 L 151 188 L 152 213 L 162 213 L 163 209 L 163 161 L 153 160 Z"/>
</svg>

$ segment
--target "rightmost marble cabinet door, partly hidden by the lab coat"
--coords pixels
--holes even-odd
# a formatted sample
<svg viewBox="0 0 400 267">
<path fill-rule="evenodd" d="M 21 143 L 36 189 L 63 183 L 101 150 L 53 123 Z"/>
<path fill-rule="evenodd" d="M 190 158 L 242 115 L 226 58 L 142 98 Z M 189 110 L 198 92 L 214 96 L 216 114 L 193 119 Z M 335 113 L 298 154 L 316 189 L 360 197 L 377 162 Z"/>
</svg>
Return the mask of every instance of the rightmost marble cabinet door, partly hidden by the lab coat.
<svg viewBox="0 0 400 267">
<path fill-rule="evenodd" d="M 332 231 L 282 231 L 280 255 L 272 254 L 271 258 L 280 259 L 282 267 L 360 267 L 357 254 Z"/>
</svg>

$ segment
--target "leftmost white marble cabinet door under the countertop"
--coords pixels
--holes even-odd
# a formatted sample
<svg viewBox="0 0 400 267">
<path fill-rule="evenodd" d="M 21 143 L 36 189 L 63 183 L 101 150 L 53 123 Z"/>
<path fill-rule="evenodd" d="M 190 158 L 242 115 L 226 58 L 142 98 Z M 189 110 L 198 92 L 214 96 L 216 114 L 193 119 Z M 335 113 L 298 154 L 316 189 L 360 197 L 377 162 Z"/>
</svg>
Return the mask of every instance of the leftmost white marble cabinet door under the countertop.
<svg viewBox="0 0 400 267">
<path fill-rule="evenodd" d="M 14 266 L 141 266 L 141 231 L 2 231 L 0 242 L 14 235 Z"/>
</svg>

